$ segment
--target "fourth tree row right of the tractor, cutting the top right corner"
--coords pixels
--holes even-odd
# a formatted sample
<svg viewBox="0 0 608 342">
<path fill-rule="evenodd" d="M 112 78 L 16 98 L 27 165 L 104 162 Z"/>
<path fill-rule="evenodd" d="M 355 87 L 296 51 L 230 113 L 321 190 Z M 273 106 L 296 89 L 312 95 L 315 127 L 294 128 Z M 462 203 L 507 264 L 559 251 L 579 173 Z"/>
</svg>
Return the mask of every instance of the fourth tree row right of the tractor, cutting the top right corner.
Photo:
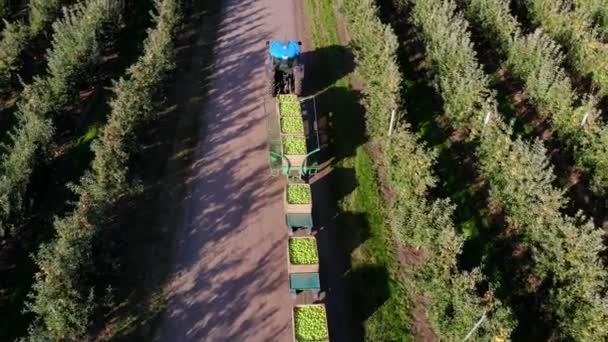
<svg viewBox="0 0 608 342">
<path fill-rule="evenodd" d="M 570 10 L 566 0 L 519 1 L 527 5 L 532 21 L 564 46 L 569 62 L 607 95 L 608 46 L 591 27 L 587 14 Z"/>
</svg>

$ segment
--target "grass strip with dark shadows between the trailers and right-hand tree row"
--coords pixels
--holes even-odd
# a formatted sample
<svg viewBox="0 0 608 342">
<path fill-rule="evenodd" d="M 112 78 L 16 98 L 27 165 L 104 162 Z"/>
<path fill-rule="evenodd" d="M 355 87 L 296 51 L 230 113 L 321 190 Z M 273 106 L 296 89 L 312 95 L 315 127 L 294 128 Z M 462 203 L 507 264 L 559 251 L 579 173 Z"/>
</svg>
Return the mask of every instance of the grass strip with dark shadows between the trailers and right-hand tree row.
<svg viewBox="0 0 608 342">
<path fill-rule="evenodd" d="M 342 1 L 342 6 L 349 1 Z M 344 76 L 345 52 L 337 33 L 337 20 L 331 0 L 307 0 L 315 50 L 324 50 L 318 63 L 323 75 L 332 78 L 321 96 L 322 110 L 330 112 L 333 130 L 333 167 L 353 170 L 355 186 L 347 177 L 335 177 L 338 192 L 348 192 L 339 203 L 343 249 L 350 251 L 348 279 L 352 293 L 353 332 L 363 330 L 366 341 L 410 341 L 409 293 L 397 281 L 397 261 L 391 252 L 390 230 L 384 221 L 383 204 L 373 161 L 363 141 L 365 113 L 359 107 L 360 93 L 354 90 L 349 75 Z M 355 147 L 353 149 L 353 147 Z M 356 248 L 352 249 L 353 246 Z M 355 332 L 354 332 L 355 333 Z"/>
</svg>

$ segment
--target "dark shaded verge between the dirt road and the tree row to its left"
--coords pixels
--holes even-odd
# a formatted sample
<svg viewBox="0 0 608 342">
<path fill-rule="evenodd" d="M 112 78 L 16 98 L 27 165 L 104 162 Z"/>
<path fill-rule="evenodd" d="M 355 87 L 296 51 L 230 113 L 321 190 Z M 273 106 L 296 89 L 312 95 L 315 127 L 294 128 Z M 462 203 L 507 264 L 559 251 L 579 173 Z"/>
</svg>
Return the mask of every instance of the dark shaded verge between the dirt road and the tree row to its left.
<svg viewBox="0 0 608 342">
<path fill-rule="evenodd" d="M 208 89 L 220 14 L 215 3 L 189 3 L 183 10 L 184 24 L 175 44 L 177 70 L 167 82 L 172 90 L 155 120 L 142 129 L 139 152 L 131 160 L 131 175 L 137 175 L 144 191 L 122 203 L 116 224 L 102 232 L 99 240 L 112 244 L 95 249 L 103 255 L 97 265 L 102 283 L 114 289 L 104 319 L 97 322 L 98 340 L 149 340 L 166 306 L 162 287 L 174 232 L 167 222 L 178 221 L 185 201 L 179 196 L 185 192 L 198 142 L 199 108 Z"/>
</svg>

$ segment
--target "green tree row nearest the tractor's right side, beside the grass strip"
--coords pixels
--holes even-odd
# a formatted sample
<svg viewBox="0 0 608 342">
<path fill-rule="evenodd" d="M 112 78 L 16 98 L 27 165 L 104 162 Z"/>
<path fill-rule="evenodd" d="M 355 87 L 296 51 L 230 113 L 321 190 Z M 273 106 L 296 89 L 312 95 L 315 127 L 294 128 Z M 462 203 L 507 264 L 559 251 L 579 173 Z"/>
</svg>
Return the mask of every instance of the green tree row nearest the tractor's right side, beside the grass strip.
<svg viewBox="0 0 608 342">
<path fill-rule="evenodd" d="M 355 73 L 365 84 L 362 103 L 368 132 L 374 143 L 383 146 L 384 159 L 378 172 L 387 173 L 395 192 L 385 212 L 394 244 L 387 248 L 394 254 L 411 248 L 424 256 L 419 265 L 401 264 L 392 277 L 411 291 L 412 297 L 427 300 L 427 317 L 439 339 L 462 339 L 484 313 L 489 319 L 475 336 L 508 337 L 514 326 L 508 308 L 493 297 L 491 290 L 479 293 L 484 279 L 478 269 L 458 269 L 464 238 L 452 222 L 454 206 L 447 199 L 426 199 L 436 183 L 432 173 L 434 153 L 404 126 L 386 138 L 390 112 L 402 107 L 397 37 L 380 21 L 374 1 L 345 1 L 342 13 L 352 38 Z"/>
</svg>

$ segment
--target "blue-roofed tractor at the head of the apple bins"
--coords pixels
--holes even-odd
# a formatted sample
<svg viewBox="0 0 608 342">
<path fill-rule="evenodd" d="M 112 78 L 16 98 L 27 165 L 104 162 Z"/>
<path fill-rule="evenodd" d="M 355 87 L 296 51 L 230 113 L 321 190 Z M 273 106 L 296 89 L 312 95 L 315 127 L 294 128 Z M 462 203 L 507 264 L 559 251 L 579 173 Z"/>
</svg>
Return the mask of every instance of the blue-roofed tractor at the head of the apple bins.
<svg viewBox="0 0 608 342">
<path fill-rule="evenodd" d="M 267 41 L 266 78 L 268 95 L 302 93 L 304 65 L 300 62 L 302 42 L 289 40 Z"/>
</svg>

